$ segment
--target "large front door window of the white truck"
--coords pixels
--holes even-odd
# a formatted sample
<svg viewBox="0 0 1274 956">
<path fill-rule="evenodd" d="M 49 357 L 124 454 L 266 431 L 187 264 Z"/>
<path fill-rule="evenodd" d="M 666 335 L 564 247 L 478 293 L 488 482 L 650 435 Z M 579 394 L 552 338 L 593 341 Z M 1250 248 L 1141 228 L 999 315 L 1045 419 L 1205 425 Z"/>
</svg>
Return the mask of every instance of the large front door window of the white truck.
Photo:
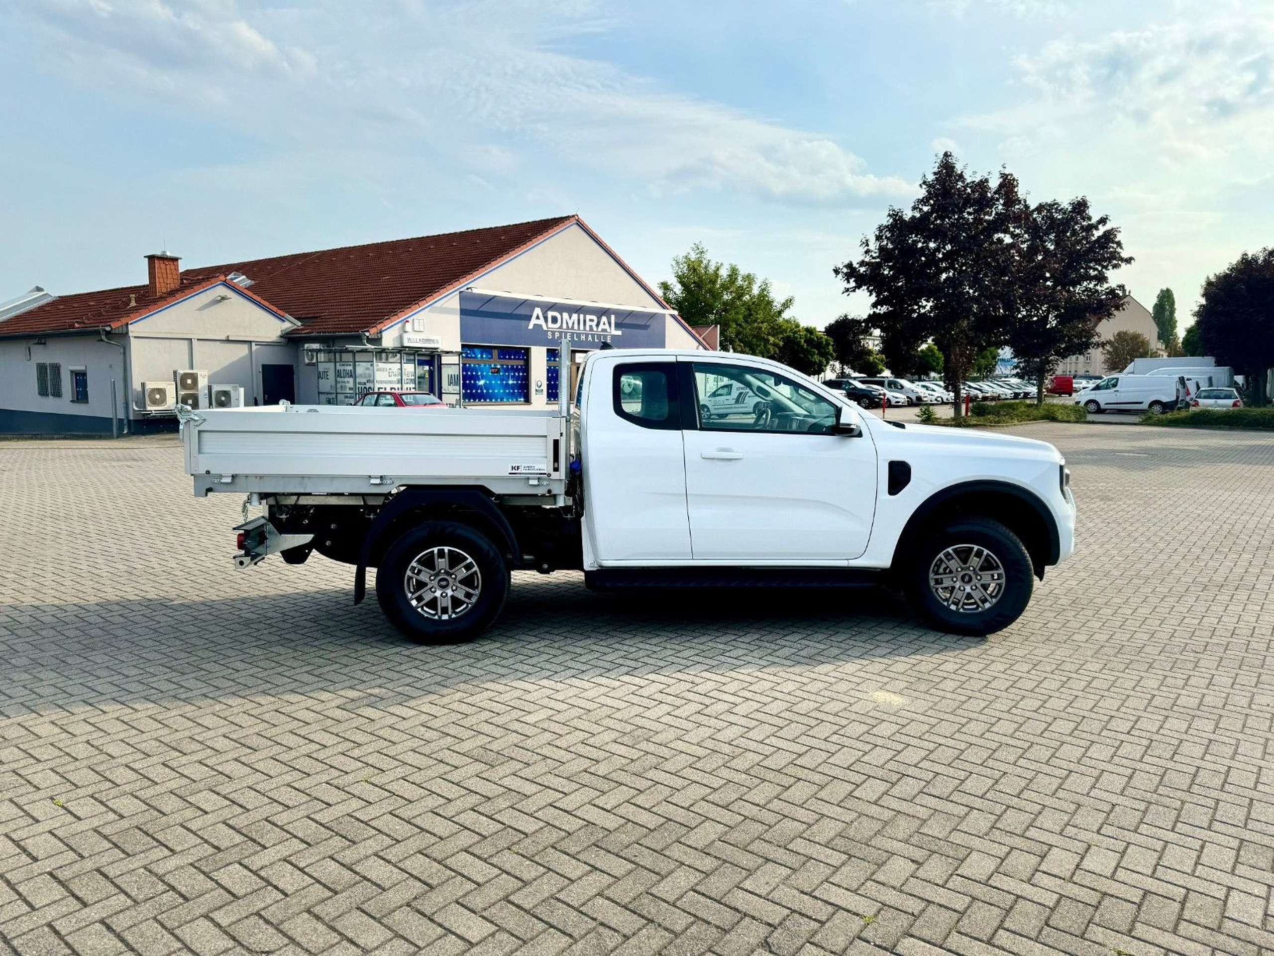
<svg viewBox="0 0 1274 956">
<path fill-rule="evenodd" d="M 791 379 L 740 365 L 696 362 L 693 368 L 703 431 L 832 433 L 836 404 Z M 727 407 L 710 402 L 725 385 L 738 389 L 736 400 Z"/>
</svg>

